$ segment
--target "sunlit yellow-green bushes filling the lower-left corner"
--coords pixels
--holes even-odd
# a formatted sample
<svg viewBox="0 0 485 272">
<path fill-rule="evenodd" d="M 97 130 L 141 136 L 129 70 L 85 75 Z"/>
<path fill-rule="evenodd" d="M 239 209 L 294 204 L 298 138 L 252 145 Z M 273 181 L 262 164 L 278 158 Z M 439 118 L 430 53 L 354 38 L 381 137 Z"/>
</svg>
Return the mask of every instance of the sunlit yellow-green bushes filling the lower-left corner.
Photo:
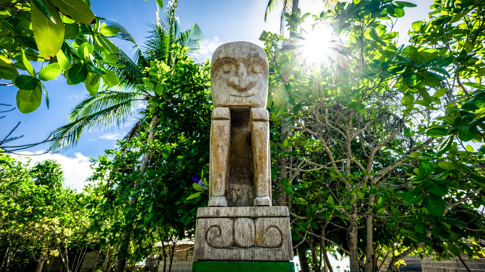
<svg viewBox="0 0 485 272">
<path fill-rule="evenodd" d="M 42 269 L 49 256 L 66 256 L 85 241 L 83 207 L 92 199 L 64 187 L 59 164 L 47 160 L 31 167 L 0 154 L 0 169 L 2 271 L 21 270 L 32 260 Z"/>
</svg>

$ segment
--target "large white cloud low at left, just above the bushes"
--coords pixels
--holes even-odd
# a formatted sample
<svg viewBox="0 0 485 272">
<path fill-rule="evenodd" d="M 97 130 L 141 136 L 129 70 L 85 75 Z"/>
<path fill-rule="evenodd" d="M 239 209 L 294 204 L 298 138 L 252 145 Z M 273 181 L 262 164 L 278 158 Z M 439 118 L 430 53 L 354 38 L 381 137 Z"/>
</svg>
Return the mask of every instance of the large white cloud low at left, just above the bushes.
<svg viewBox="0 0 485 272">
<path fill-rule="evenodd" d="M 22 152 L 23 154 L 25 154 L 24 156 L 12 156 L 20 159 L 22 162 L 27 162 L 27 160 L 30 158 L 32 159 L 31 165 L 34 165 L 36 162 L 39 161 L 55 160 L 61 165 L 61 168 L 64 170 L 65 185 L 71 186 L 72 188 L 81 191 L 84 185 L 88 184 L 85 181 L 93 173 L 93 170 L 89 167 L 91 165 L 89 157 L 84 156 L 81 152 L 74 153 L 75 157 L 67 157 L 58 153 L 34 155 L 41 154 L 42 152 L 43 151 L 24 151 Z"/>
</svg>

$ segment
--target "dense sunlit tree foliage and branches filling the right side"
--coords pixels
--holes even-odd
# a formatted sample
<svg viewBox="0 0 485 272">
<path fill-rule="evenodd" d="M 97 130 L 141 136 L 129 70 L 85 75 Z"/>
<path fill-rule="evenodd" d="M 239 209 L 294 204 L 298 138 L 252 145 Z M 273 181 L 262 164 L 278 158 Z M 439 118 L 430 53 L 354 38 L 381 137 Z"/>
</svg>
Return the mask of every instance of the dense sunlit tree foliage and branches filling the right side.
<svg viewBox="0 0 485 272">
<path fill-rule="evenodd" d="M 412 6 L 354 0 L 313 15 L 313 35 L 326 26 L 335 35 L 322 41 L 328 52 L 313 52 L 320 62 L 303 54 L 311 31 L 290 41 L 261 35 L 272 62 L 272 150 L 293 158 L 291 179 L 279 182 L 291 194 L 295 244 L 310 249 L 316 270 L 326 262 L 319 248 L 349 256 L 352 272 L 386 258 L 390 271 L 411 252 L 482 250 L 483 152 L 463 141 L 484 141 L 482 92 L 465 87 L 482 88 L 483 3 L 435 1 L 429 21 L 413 23 L 413 45 L 399 46 L 385 22 Z M 289 30 L 308 15 L 286 14 Z M 477 82 L 460 83 L 470 77 Z M 285 119 L 293 134 L 281 141 Z"/>
</svg>

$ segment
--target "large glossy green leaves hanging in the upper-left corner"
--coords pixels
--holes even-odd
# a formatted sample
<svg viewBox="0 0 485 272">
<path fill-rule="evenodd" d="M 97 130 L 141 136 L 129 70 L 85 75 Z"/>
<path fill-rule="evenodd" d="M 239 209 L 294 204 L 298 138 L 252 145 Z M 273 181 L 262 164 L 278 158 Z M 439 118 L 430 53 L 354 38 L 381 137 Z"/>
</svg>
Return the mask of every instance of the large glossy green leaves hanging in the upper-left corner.
<svg viewBox="0 0 485 272">
<path fill-rule="evenodd" d="M 16 104 L 22 113 L 37 109 L 48 92 L 42 83 L 64 74 L 67 84 L 84 82 L 94 95 L 103 84 L 118 84 L 114 69 L 118 48 L 107 37 L 119 29 L 101 23 L 84 0 L 20 0 L 0 4 L 0 78 L 19 90 Z M 32 61 L 40 61 L 38 72 Z M 19 70 L 26 71 L 22 75 Z"/>
</svg>

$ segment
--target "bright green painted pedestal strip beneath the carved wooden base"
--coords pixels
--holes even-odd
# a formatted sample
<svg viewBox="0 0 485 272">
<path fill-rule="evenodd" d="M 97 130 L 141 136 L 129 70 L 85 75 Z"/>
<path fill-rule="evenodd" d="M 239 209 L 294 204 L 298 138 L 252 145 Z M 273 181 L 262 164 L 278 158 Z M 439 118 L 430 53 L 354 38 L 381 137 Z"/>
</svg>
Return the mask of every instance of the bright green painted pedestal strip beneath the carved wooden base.
<svg viewBox="0 0 485 272">
<path fill-rule="evenodd" d="M 293 262 L 194 261 L 193 272 L 295 272 Z"/>
</svg>

